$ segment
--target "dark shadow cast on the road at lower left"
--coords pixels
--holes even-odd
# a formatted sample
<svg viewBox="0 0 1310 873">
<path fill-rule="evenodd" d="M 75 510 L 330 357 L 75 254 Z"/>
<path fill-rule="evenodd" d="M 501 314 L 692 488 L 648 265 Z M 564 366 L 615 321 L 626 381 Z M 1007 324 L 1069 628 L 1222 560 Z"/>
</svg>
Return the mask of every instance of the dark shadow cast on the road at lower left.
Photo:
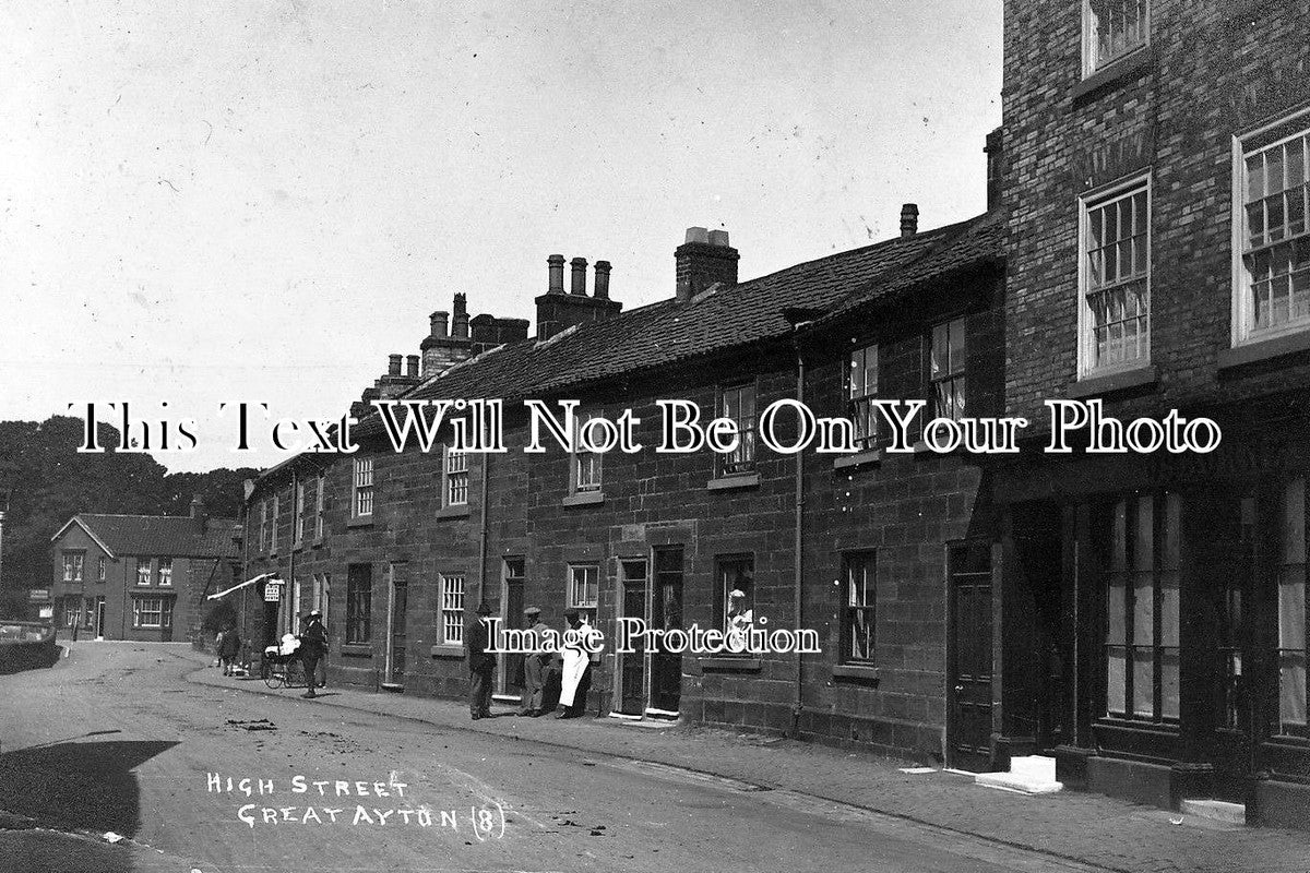
<svg viewBox="0 0 1310 873">
<path fill-rule="evenodd" d="M 0 754 L 0 809 L 38 826 L 135 836 L 140 788 L 132 770 L 176 742 L 59 742 Z"/>
</svg>

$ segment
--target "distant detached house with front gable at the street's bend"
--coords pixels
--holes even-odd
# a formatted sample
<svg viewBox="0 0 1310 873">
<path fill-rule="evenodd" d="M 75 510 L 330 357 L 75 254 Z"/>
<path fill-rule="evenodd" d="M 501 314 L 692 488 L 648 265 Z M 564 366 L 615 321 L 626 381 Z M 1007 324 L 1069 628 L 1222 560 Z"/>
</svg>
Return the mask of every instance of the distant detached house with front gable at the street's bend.
<svg viewBox="0 0 1310 873">
<path fill-rule="evenodd" d="M 204 596 L 241 572 L 241 526 L 190 516 L 73 516 L 51 538 L 55 620 L 106 640 L 199 639 Z"/>
</svg>

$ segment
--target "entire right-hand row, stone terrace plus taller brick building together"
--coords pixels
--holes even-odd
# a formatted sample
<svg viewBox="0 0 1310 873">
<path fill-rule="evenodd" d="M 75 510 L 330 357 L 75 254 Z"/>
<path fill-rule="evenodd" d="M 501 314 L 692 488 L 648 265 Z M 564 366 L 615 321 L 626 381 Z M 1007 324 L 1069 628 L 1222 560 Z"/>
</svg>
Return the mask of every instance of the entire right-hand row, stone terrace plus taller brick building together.
<svg viewBox="0 0 1310 873">
<path fill-rule="evenodd" d="M 671 294 L 548 258 L 536 325 L 432 317 L 356 411 L 360 450 L 269 470 L 245 575 L 274 639 L 324 609 L 330 681 L 462 695 L 485 601 L 601 627 L 814 628 L 819 654 L 607 652 L 588 705 L 850 743 L 975 771 L 1053 758 L 1066 787 L 1163 806 L 1310 808 L 1306 380 L 1310 4 L 1005 4 L 1003 126 L 975 219 L 743 280 L 693 228 Z M 503 398 L 508 452 L 396 453 L 365 403 Z M 685 398 L 730 454 L 524 453 L 524 399 Z M 762 408 L 848 416 L 855 454 L 778 454 Z M 1013 455 L 892 453 L 876 399 L 1017 415 Z M 1209 454 L 1043 452 L 1053 398 L 1208 416 Z M 790 424 L 789 424 L 790 421 Z M 787 438 L 794 419 L 783 421 Z M 517 694 L 502 657 L 498 691 Z"/>
</svg>

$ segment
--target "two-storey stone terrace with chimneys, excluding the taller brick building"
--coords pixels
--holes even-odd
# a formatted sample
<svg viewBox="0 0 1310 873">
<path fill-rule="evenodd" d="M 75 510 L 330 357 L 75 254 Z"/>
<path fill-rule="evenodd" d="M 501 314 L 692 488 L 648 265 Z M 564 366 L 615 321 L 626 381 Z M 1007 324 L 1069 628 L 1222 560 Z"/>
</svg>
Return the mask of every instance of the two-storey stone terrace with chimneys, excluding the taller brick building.
<svg viewBox="0 0 1310 873">
<path fill-rule="evenodd" d="M 969 652 L 947 644 L 946 585 L 954 573 L 968 598 L 989 596 L 984 476 L 960 455 L 889 453 L 870 402 L 922 398 L 951 418 L 1000 411 L 1003 229 L 989 212 L 918 232 L 907 207 L 897 238 L 738 281 L 727 233 L 693 228 L 671 297 L 627 313 L 609 296 L 607 262 L 588 293 L 584 259 L 572 259 L 566 291 L 566 262 L 550 257 L 534 339 L 516 322 L 500 344 L 461 349 L 405 385 L 393 356 L 364 398 L 397 387 L 406 399 L 502 398 L 506 453 L 452 452 L 448 428 L 431 450 L 396 453 L 372 416 L 355 428 L 354 455 L 299 455 L 255 483 L 248 575 L 275 573 L 290 590 L 248 635 L 272 639 L 317 606 L 330 681 L 455 696 L 478 601 L 510 626 L 531 603 L 555 627 L 574 606 L 607 633 L 618 616 L 722 630 L 740 592 L 757 622 L 812 628 L 821 653 L 610 648 L 588 708 L 986 766 L 972 695 L 990 691 L 947 694 L 963 669 L 952 658 L 976 661 L 977 647 L 972 624 Z M 671 398 L 740 421 L 741 448 L 655 453 L 656 402 Z M 859 452 L 766 449 L 755 418 L 786 398 L 854 420 Z M 579 421 L 631 410 L 645 449 L 525 453 L 525 399 L 576 399 Z M 779 416 L 781 440 L 796 432 L 794 415 Z M 504 695 L 517 692 L 516 668 L 502 657 Z"/>
</svg>

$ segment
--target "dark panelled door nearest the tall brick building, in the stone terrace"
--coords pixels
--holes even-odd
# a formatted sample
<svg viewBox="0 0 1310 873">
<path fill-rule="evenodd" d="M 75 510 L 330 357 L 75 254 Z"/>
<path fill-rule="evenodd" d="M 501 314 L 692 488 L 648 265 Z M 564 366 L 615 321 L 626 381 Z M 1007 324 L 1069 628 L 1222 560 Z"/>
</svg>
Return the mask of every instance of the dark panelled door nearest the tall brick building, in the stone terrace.
<svg viewBox="0 0 1310 873">
<path fill-rule="evenodd" d="M 992 547 L 947 547 L 950 589 L 947 749 L 950 766 L 975 772 L 992 763 Z"/>
</svg>

